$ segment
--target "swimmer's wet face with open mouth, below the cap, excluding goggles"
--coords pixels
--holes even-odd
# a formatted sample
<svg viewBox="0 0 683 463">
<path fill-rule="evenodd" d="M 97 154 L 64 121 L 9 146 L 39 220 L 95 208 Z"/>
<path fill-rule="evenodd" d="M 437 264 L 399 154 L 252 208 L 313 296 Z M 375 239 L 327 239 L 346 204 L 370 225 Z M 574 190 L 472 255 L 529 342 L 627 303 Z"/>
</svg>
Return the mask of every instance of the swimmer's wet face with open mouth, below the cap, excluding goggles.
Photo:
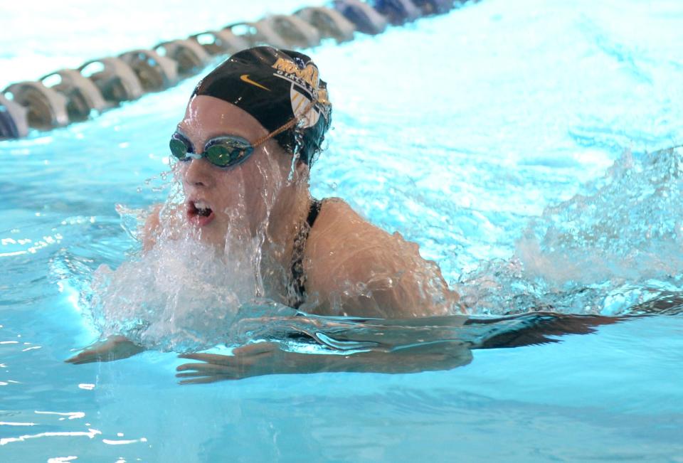
<svg viewBox="0 0 683 463">
<path fill-rule="evenodd" d="M 209 96 L 193 97 L 178 130 L 196 153 L 211 139 L 236 135 L 255 142 L 268 131 L 248 112 Z M 214 166 L 206 158 L 178 161 L 186 196 L 189 223 L 201 230 L 201 239 L 224 245 L 228 234 L 254 235 L 269 206 L 287 181 L 288 161 L 275 140 L 255 147 L 238 166 Z"/>
</svg>

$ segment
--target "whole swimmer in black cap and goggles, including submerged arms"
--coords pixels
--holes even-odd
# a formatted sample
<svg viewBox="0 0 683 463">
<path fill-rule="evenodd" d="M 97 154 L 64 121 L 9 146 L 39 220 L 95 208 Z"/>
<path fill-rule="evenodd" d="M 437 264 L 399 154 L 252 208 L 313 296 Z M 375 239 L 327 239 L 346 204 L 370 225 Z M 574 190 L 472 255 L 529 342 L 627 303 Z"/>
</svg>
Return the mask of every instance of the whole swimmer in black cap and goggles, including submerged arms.
<svg viewBox="0 0 683 463">
<path fill-rule="evenodd" d="M 231 355 L 188 353 L 181 357 L 194 362 L 177 368 L 181 383 L 274 373 L 446 370 L 469 363 L 473 348 L 556 342 L 560 334 L 587 334 L 620 321 L 542 312 L 465 316 L 457 293 L 435 262 L 420 257 L 418 245 L 377 228 L 339 198 L 312 198 L 310 167 L 331 118 L 326 83 L 310 58 L 294 51 L 243 50 L 196 86 L 170 141 L 184 191 L 175 210 L 181 220 L 171 228 L 194 230 L 223 252 L 228 244 L 262 238 L 255 240 L 259 295 L 309 314 L 268 322 L 337 352 L 297 353 L 260 341 Z M 161 210 L 154 208 L 144 226 L 147 252 L 170 239 Z M 237 323 L 251 332 L 265 320 Z M 346 353 L 344 346 L 356 351 Z M 125 336 L 110 336 L 68 362 L 110 361 L 142 350 Z"/>
</svg>

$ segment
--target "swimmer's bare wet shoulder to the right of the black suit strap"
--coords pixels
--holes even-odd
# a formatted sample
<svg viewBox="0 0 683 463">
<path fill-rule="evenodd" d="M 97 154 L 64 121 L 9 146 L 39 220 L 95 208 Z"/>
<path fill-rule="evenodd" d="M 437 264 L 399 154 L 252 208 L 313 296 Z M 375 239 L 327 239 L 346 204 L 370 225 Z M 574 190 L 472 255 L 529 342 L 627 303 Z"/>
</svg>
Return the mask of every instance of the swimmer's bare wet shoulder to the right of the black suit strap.
<svg viewBox="0 0 683 463">
<path fill-rule="evenodd" d="M 342 200 L 324 202 L 306 245 L 307 293 L 319 314 L 385 318 L 448 314 L 457 301 L 436 262 Z"/>
</svg>

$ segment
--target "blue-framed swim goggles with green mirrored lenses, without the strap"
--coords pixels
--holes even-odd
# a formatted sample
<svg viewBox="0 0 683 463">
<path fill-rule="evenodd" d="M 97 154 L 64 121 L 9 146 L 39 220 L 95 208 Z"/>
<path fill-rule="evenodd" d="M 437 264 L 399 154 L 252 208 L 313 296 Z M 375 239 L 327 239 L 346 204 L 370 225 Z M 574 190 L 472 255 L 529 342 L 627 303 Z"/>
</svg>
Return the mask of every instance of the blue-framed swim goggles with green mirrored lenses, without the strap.
<svg viewBox="0 0 683 463">
<path fill-rule="evenodd" d="M 171 154 L 179 161 L 206 158 L 214 166 L 223 169 L 243 163 L 254 152 L 254 146 L 248 140 L 236 135 L 213 138 L 206 142 L 203 152 L 195 153 L 191 142 L 176 132 L 171 136 L 169 147 Z"/>
</svg>

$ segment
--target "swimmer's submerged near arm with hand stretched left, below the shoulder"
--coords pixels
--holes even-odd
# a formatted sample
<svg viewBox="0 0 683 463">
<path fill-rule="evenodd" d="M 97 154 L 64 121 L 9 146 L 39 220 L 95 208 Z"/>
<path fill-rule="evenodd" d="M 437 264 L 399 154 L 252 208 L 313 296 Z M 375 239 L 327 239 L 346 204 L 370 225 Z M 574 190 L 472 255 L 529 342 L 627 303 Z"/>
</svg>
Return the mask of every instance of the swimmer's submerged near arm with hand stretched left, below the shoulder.
<svg viewBox="0 0 683 463">
<path fill-rule="evenodd" d="M 181 372 L 176 373 L 176 377 L 184 378 L 181 384 L 196 384 L 286 373 L 418 373 L 450 370 L 470 363 L 472 352 L 457 341 L 347 355 L 287 352 L 282 351 L 280 344 L 275 342 L 261 342 L 235 348 L 231 356 L 186 353 L 180 357 L 204 362 L 184 363 L 176 368 L 176 371 Z"/>
</svg>

